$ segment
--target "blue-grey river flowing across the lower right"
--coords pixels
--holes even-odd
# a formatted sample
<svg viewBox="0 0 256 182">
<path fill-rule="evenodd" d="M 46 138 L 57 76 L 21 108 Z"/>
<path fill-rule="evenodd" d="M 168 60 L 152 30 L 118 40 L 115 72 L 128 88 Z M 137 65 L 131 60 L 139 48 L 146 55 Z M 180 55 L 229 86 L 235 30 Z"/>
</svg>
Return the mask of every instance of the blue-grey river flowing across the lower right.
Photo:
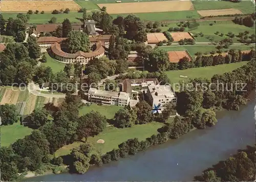
<svg viewBox="0 0 256 182">
<path fill-rule="evenodd" d="M 214 127 L 194 130 L 135 156 L 92 167 L 83 175 L 50 174 L 26 181 L 193 180 L 211 165 L 255 143 L 253 110 L 254 102 L 250 102 L 240 111 L 218 112 Z"/>
</svg>

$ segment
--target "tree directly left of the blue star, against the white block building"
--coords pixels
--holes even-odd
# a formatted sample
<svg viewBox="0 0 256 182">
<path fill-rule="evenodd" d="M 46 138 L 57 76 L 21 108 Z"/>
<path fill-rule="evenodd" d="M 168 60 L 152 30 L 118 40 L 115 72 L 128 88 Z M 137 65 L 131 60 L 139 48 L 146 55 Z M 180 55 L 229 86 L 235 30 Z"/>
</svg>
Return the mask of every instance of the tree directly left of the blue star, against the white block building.
<svg viewBox="0 0 256 182">
<path fill-rule="evenodd" d="M 135 105 L 135 111 L 137 114 L 136 124 L 145 124 L 152 122 L 152 107 L 144 100 Z"/>
</svg>

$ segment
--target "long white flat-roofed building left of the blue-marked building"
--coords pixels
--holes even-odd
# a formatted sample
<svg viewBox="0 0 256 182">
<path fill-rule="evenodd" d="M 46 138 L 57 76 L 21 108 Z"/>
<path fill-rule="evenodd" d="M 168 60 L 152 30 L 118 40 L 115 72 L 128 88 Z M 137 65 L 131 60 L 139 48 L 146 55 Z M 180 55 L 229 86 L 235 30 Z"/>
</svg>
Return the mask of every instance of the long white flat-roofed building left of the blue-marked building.
<svg viewBox="0 0 256 182">
<path fill-rule="evenodd" d="M 88 100 L 93 103 L 124 107 L 129 105 L 130 94 L 125 92 L 111 92 L 90 88 L 88 91 Z"/>
</svg>

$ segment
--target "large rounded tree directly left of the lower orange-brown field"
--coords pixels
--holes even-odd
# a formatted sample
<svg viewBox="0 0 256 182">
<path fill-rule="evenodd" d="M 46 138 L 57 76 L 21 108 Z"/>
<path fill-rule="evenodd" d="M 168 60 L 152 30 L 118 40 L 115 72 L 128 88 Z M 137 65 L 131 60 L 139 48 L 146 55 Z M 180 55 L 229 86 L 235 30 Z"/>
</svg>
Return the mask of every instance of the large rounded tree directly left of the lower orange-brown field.
<svg viewBox="0 0 256 182">
<path fill-rule="evenodd" d="M 149 59 L 145 61 L 145 68 L 148 71 L 166 71 L 169 66 L 169 56 L 163 49 L 153 49 L 148 55 Z"/>
</svg>

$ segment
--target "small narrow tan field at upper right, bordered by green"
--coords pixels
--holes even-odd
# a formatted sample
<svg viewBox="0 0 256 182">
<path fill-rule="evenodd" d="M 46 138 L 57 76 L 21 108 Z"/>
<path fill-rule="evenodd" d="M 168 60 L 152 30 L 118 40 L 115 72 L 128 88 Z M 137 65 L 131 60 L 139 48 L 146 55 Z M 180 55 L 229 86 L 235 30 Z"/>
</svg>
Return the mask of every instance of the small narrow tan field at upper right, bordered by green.
<svg viewBox="0 0 256 182">
<path fill-rule="evenodd" d="M 201 10 L 197 11 L 201 16 L 218 16 L 227 14 L 243 14 L 238 9 L 221 9 L 221 10 Z"/>
</svg>

